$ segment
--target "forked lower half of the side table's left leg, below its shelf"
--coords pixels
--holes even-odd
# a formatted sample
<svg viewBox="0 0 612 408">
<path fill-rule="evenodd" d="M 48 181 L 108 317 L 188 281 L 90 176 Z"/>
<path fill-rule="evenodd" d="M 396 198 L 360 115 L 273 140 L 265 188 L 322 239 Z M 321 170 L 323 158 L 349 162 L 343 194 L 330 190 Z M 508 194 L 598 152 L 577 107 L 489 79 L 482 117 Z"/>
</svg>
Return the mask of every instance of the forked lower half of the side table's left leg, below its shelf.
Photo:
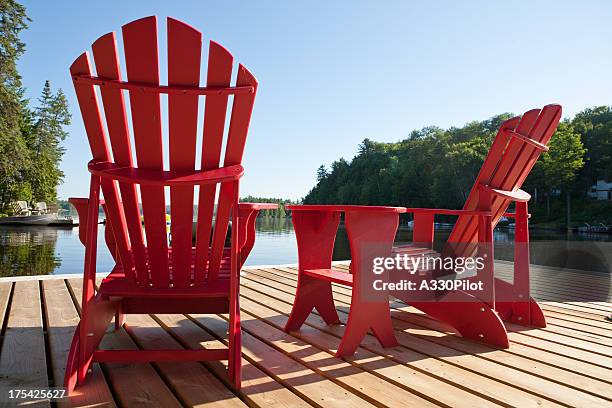
<svg viewBox="0 0 612 408">
<path fill-rule="evenodd" d="M 317 309 L 325 323 L 340 323 L 334 305 L 331 283 L 300 274 L 293 308 L 285 325 L 285 331 L 299 330 L 313 309 Z"/>
</svg>

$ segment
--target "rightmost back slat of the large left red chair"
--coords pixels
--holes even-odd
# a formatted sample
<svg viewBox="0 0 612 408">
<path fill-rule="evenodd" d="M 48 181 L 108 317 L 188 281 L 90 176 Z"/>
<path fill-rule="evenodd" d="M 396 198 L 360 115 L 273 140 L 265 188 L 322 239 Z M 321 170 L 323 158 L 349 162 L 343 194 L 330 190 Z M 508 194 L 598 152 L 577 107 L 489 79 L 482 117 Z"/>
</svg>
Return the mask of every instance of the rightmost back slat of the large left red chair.
<svg viewBox="0 0 612 408">
<path fill-rule="evenodd" d="M 236 86 L 242 85 L 253 86 L 255 92 L 234 96 L 227 145 L 225 147 L 224 166 L 231 166 L 242 162 L 249 122 L 251 120 L 253 104 L 255 103 L 255 93 L 257 92 L 257 80 L 244 66 L 239 65 Z M 232 200 L 238 200 L 238 198 L 234 196 L 234 186 L 232 183 L 222 183 L 219 192 L 219 202 L 217 204 L 217 217 L 215 218 L 215 231 L 210 265 L 208 268 L 209 281 L 216 279 L 219 275 L 230 209 L 234 204 Z M 236 226 L 233 227 L 235 228 Z"/>
</svg>

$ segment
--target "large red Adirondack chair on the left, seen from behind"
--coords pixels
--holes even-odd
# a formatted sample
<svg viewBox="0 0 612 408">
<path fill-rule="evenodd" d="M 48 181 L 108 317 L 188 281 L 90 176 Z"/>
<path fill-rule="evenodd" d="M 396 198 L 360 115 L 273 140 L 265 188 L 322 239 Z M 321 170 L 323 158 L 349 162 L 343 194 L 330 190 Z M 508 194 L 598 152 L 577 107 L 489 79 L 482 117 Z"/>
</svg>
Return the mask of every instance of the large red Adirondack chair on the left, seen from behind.
<svg viewBox="0 0 612 408">
<path fill-rule="evenodd" d="M 257 81 L 240 65 L 236 84 L 230 86 L 233 58 L 211 41 L 206 85 L 200 87 L 202 34 L 168 18 L 168 85 L 160 85 L 156 17 L 131 22 L 122 32 L 127 81 L 121 79 L 115 33 L 100 37 L 92 45 L 97 76 L 87 52 L 70 67 L 93 160 L 88 165 L 89 198 L 71 199 L 79 212 L 79 235 L 86 249 L 81 322 L 68 355 L 65 386 L 72 390 L 85 381 L 93 362 L 228 360 L 230 381 L 239 388 L 239 270 L 255 241 L 258 211 L 276 208 L 275 204 L 238 202 Z M 100 89 L 106 126 L 95 87 Z M 126 91 L 137 167 L 132 157 Z M 160 94 L 168 95 L 169 170 L 163 163 Z M 220 167 L 230 95 L 231 118 Z M 201 169 L 196 169 L 200 96 L 205 96 L 204 123 Z M 199 195 L 194 246 L 195 186 L 199 186 Z M 170 191 L 171 245 L 166 235 L 165 188 Z M 107 217 L 106 243 L 116 266 L 96 290 L 100 204 Z M 225 247 L 230 217 L 231 245 Z M 130 313 L 229 313 L 229 347 L 99 350 L 113 317 L 116 328 L 120 328 L 124 315 Z"/>
</svg>

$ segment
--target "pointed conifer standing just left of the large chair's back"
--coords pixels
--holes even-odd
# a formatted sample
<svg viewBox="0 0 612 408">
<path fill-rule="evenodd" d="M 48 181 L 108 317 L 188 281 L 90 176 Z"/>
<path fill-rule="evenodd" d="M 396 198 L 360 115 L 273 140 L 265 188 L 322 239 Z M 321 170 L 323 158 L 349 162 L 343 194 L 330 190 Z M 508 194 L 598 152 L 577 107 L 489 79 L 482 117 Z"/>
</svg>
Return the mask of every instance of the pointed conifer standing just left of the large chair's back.
<svg viewBox="0 0 612 408">
<path fill-rule="evenodd" d="M 64 155 L 61 142 L 67 136 L 64 126 L 70 124 L 70 113 L 64 93 L 60 89 L 54 94 L 49 81 L 45 82 L 38 101 L 28 137 L 32 163 L 28 179 L 33 200 L 53 202 L 57 199 L 57 185 L 64 177 L 59 163 Z"/>
</svg>

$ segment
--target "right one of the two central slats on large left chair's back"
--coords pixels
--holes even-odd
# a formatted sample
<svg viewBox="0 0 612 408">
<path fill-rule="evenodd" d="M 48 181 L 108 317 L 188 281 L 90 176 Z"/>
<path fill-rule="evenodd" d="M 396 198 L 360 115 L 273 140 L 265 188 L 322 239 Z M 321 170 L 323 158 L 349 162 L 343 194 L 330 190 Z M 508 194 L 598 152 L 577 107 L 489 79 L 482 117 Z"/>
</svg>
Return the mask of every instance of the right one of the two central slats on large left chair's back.
<svg viewBox="0 0 612 408">
<path fill-rule="evenodd" d="M 199 86 L 202 34 L 168 19 L 168 85 Z M 170 170 L 194 170 L 198 96 L 168 95 Z M 191 283 L 193 186 L 170 188 L 172 283 Z"/>
</svg>

